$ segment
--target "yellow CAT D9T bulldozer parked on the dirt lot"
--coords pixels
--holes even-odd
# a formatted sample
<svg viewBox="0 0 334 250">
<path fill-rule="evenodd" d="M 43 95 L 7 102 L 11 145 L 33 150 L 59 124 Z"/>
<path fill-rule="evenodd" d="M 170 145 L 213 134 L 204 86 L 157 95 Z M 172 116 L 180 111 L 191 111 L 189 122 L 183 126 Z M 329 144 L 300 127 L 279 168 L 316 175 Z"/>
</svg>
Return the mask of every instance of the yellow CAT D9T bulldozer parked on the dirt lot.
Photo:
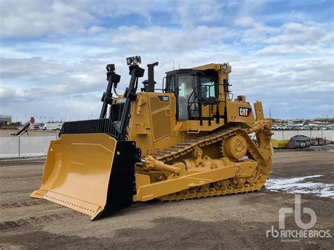
<svg viewBox="0 0 334 250">
<path fill-rule="evenodd" d="M 127 58 L 130 83 L 106 66 L 99 119 L 64 123 L 51 141 L 41 187 L 30 196 L 91 216 L 135 201 L 175 201 L 261 189 L 271 170 L 271 120 L 262 104 L 233 100 L 228 63 L 171 70 L 156 89 L 140 56 Z M 254 118 L 255 116 L 255 118 Z M 250 134 L 256 137 L 252 139 Z"/>
</svg>

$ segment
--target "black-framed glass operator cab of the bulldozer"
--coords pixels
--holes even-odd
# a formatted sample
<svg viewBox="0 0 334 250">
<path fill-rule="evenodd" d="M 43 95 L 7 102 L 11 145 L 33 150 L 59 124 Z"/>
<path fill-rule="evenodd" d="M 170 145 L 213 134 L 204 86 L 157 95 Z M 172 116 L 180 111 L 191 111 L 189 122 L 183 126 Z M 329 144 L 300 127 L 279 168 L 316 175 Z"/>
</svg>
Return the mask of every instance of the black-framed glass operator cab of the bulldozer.
<svg viewBox="0 0 334 250">
<path fill-rule="evenodd" d="M 202 113 L 203 106 L 218 106 L 218 74 L 216 70 L 180 69 L 166 73 L 165 93 L 177 97 L 178 120 L 211 120 Z"/>
</svg>

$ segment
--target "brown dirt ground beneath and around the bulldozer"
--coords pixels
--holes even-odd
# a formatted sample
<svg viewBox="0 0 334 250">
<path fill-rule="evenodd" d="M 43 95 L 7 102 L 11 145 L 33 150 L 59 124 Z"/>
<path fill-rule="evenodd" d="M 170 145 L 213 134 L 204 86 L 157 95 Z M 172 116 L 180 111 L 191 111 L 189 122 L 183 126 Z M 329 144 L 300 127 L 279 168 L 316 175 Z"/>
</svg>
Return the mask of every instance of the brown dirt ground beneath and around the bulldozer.
<svg viewBox="0 0 334 250">
<path fill-rule="evenodd" d="M 272 179 L 314 176 L 333 185 L 333 152 L 276 151 Z M 175 202 L 151 201 L 96 221 L 49 201 L 31 199 L 44 158 L 0 160 L 0 247 L 37 249 L 332 249 L 333 238 L 266 237 L 278 230 L 278 211 L 295 207 L 295 195 L 259 192 Z M 321 176 L 319 176 L 321 175 Z M 316 213 L 310 230 L 334 235 L 333 197 L 302 194 L 302 208 Z M 302 213 L 304 223 L 309 215 Z M 293 213 L 286 230 L 300 230 Z"/>
</svg>

